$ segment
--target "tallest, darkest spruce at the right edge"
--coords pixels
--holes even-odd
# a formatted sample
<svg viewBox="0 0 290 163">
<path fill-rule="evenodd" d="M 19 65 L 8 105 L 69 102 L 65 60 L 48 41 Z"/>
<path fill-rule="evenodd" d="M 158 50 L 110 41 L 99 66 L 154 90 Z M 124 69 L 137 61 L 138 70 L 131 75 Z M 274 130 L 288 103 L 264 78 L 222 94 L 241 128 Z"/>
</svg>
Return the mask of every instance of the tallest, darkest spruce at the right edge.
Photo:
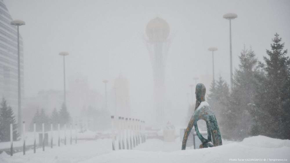
<svg viewBox="0 0 290 163">
<path fill-rule="evenodd" d="M 262 114 L 256 116 L 256 128 L 265 136 L 290 139 L 290 59 L 277 33 L 272 41 L 271 51 L 266 50 L 269 58 L 264 56 L 265 63 L 260 62 L 266 75 L 260 78 L 257 108 Z"/>
</svg>

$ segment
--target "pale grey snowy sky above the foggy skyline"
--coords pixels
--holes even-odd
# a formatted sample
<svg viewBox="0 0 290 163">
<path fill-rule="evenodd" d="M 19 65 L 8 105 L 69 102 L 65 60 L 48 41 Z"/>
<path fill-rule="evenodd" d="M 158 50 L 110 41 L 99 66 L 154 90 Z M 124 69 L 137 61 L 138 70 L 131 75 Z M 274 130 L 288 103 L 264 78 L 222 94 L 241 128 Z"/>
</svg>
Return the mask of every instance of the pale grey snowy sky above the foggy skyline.
<svg viewBox="0 0 290 163">
<path fill-rule="evenodd" d="M 244 47 L 255 51 L 258 59 L 271 49 L 277 32 L 285 49 L 290 48 L 290 1 L 242 0 L 4 0 L 12 19 L 26 22 L 19 28 L 24 41 L 25 96 L 39 90 L 63 90 L 63 58 L 66 51 L 66 76 L 76 73 L 88 79 L 89 87 L 104 93 L 121 74 L 128 79 L 132 107 L 146 106 L 153 94 L 153 73 L 146 37 L 147 23 L 156 17 L 170 26 L 165 83 L 167 98 L 173 108 L 184 111 L 191 93 L 190 84 L 212 80 L 212 55 L 216 47 L 215 78 L 230 81 L 229 20 L 223 15 L 233 12 L 233 67 L 237 68 Z M 289 56 L 289 54 L 288 54 Z M 68 90 L 70 88 L 67 88 Z"/>
</svg>

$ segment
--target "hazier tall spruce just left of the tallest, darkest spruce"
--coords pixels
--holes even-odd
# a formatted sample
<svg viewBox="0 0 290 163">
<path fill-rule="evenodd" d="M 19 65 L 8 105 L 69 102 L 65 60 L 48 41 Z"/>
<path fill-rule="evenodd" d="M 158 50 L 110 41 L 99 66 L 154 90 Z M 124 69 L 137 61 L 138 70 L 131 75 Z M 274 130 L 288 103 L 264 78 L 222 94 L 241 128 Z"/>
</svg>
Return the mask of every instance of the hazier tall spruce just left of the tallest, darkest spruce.
<svg viewBox="0 0 290 163">
<path fill-rule="evenodd" d="M 251 136 L 251 128 L 253 127 L 253 117 L 251 109 L 254 104 L 256 95 L 256 85 L 258 83 L 255 78 L 259 74 L 258 59 L 255 52 L 250 49 L 244 49 L 239 56 L 239 68 L 235 70 L 233 80 L 233 90 L 229 102 L 229 109 L 235 116 L 234 140 L 243 140 L 245 137 Z"/>
</svg>

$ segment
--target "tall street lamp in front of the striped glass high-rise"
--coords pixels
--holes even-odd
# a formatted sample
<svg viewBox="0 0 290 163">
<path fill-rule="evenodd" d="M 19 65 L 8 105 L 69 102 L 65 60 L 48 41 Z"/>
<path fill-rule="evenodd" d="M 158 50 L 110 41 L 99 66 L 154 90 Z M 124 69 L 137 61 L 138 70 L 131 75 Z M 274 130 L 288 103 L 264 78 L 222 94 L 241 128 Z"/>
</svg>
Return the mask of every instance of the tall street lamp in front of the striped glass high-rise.
<svg viewBox="0 0 290 163">
<path fill-rule="evenodd" d="M 21 134 L 21 84 L 20 84 L 20 50 L 19 50 L 19 26 L 25 25 L 25 22 L 22 20 L 13 20 L 10 23 L 11 25 L 17 26 L 17 44 L 18 44 L 18 131 Z"/>
</svg>

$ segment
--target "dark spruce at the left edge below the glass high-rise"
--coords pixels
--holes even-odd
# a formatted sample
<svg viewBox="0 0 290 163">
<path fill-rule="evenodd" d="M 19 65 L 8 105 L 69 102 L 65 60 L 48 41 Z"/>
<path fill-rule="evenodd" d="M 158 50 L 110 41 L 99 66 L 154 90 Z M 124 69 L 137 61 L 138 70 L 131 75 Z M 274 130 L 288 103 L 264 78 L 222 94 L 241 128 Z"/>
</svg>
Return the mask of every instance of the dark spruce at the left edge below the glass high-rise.
<svg viewBox="0 0 290 163">
<path fill-rule="evenodd" d="M 0 107 L 0 142 L 10 141 L 10 124 L 13 127 L 13 141 L 18 140 L 19 133 L 17 132 L 17 124 L 13 114 L 11 106 L 7 105 L 7 101 L 3 97 Z"/>
</svg>

